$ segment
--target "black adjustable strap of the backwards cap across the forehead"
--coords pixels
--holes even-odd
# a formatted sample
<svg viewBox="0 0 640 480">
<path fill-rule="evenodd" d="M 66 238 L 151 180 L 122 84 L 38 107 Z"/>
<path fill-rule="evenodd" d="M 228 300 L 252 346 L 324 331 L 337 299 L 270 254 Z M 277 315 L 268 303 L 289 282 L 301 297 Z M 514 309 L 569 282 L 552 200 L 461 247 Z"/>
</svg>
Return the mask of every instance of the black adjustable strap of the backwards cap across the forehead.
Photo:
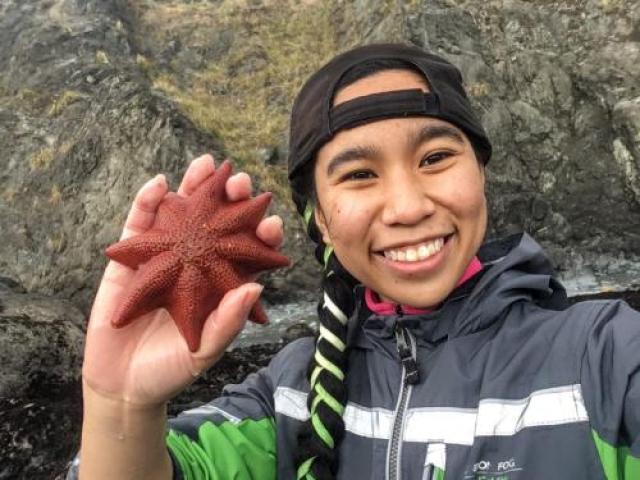
<svg viewBox="0 0 640 480">
<path fill-rule="evenodd" d="M 418 88 L 374 93 L 340 103 L 329 111 L 329 134 L 373 120 L 440 113 L 435 93 Z"/>
</svg>

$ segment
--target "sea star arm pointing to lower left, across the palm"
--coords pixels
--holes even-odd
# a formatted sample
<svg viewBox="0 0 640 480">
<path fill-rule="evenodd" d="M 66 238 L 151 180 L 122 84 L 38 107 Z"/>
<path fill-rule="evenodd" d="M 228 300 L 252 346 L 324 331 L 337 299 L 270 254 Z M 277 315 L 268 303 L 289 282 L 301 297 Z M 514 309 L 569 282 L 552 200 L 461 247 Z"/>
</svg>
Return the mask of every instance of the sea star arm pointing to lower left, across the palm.
<svg viewBox="0 0 640 480">
<path fill-rule="evenodd" d="M 181 268 L 180 261 L 173 253 L 164 252 L 139 269 L 131 291 L 118 308 L 112 325 L 123 327 L 136 317 L 164 306 L 164 293 L 172 288 Z"/>
</svg>

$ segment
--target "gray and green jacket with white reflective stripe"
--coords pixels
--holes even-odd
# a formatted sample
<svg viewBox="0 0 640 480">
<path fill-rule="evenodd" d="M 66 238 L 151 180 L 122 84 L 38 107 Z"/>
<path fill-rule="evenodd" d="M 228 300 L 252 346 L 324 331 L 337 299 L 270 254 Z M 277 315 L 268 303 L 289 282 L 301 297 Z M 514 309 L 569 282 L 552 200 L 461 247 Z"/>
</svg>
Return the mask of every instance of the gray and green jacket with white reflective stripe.
<svg viewBox="0 0 640 480">
<path fill-rule="evenodd" d="M 338 479 L 640 480 L 640 313 L 569 306 L 526 234 L 478 256 L 432 313 L 377 315 L 356 288 Z M 293 342 L 170 420 L 175 477 L 295 478 L 313 352 Z"/>
</svg>

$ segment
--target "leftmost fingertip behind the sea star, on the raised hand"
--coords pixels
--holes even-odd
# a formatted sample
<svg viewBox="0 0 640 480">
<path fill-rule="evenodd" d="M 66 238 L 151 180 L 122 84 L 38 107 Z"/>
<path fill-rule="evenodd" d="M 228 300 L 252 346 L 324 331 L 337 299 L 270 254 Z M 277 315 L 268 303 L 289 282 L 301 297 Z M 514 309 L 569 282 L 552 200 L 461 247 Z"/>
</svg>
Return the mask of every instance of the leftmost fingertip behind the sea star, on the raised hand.
<svg viewBox="0 0 640 480">
<path fill-rule="evenodd" d="M 156 175 L 145 183 L 136 197 L 127 215 L 120 240 L 146 232 L 153 225 L 158 205 L 167 193 L 167 179 L 164 175 Z"/>
</svg>

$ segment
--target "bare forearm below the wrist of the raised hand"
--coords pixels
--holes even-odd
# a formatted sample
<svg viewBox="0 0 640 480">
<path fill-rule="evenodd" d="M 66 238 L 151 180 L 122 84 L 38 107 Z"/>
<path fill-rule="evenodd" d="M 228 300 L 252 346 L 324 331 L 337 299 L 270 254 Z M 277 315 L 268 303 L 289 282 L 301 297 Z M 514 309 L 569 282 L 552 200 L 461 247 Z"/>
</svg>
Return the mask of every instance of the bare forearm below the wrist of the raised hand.
<svg viewBox="0 0 640 480">
<path fill-rule="evenodd" d="M 84 385 L 80 480 L 170 480 L 166 405 L 139 407 Z"/>
</svg>

